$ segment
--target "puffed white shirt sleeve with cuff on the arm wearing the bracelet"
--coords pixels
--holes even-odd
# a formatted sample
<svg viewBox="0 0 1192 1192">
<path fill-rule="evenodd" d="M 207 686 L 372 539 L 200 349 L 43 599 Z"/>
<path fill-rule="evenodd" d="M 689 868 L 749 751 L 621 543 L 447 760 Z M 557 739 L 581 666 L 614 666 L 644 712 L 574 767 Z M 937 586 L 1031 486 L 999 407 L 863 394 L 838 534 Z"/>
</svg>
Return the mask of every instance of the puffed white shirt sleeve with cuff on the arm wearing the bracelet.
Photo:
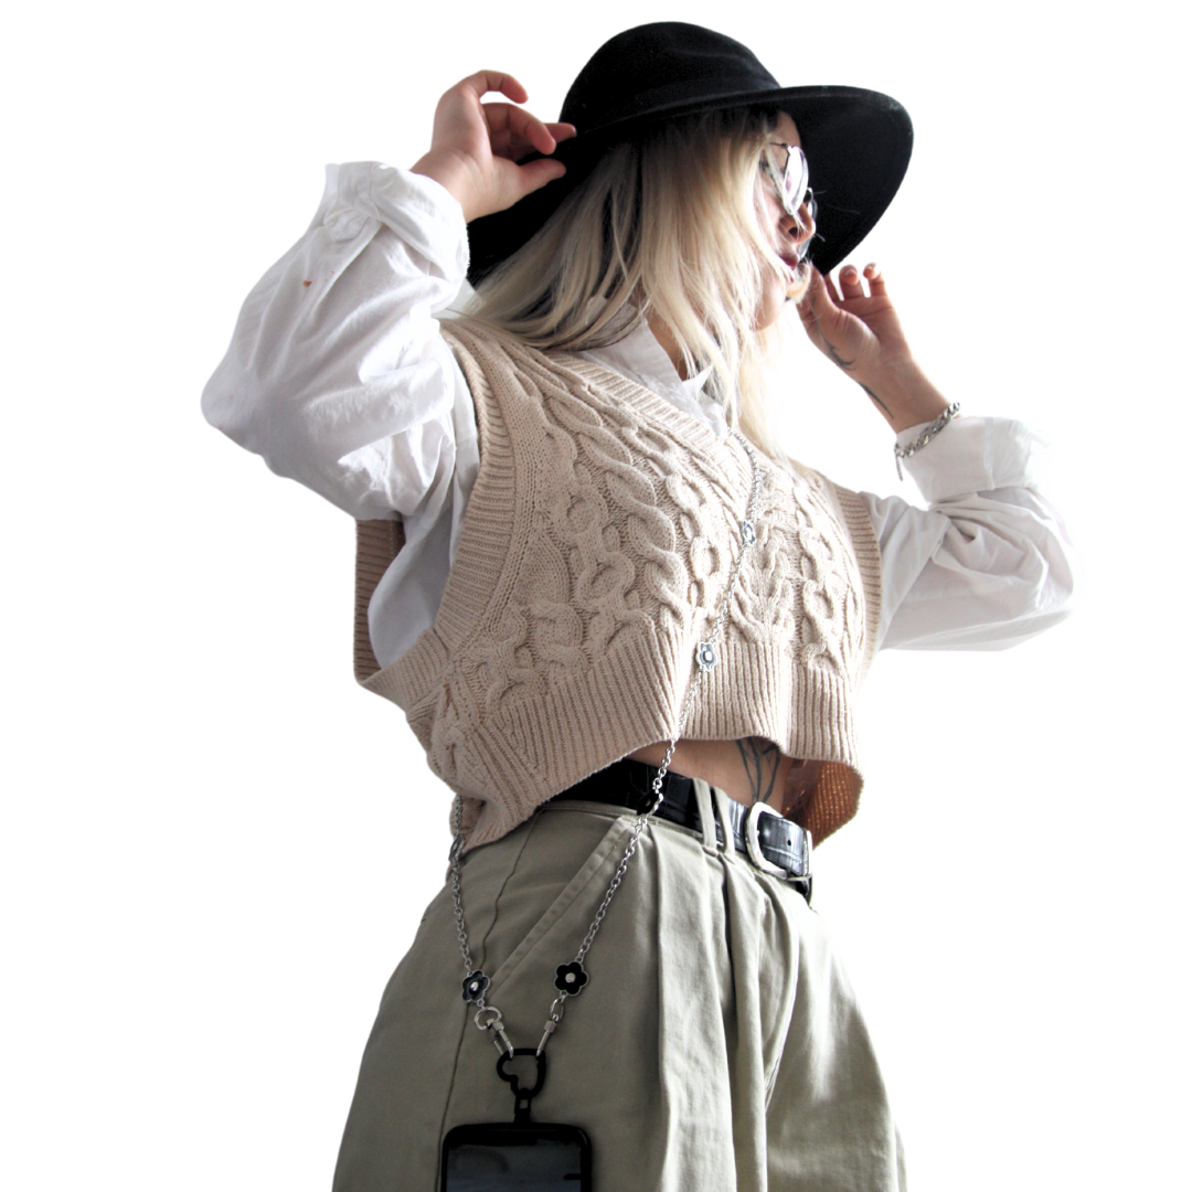
<svg viewBox="0 0 1192 1192">
<path fill-rule="evenodd" d="M 998 650 L 1069 614 L 1076 559 L 1039 491 L 1043 447 L 1011 418 L 956 418 L 904 462 L 926 509 L 862 493 L 882 555 L 880 648 Z"/>
</svg>

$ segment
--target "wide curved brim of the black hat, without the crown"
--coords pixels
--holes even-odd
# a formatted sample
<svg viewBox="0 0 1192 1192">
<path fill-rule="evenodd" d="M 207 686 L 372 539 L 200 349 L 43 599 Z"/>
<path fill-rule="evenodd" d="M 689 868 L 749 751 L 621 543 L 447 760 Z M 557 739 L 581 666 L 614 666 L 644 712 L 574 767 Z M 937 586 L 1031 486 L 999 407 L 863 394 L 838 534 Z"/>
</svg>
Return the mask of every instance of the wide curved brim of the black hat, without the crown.
<svg viewBox="0 0 1192 1192">
<path fill-rule="evenodd" d="M 861 87 L 787 87 L 658 105 L 563 142 L 554 156 L 567 173 L 520 203 L 467 228 L 468 281 L 477 285 L 522 247 L 613 144 L 659 120 L 733 107 L 772 107 L 799 126 L 815 192 L 817 232 L 809 259 L 827 272 L 869 234 L 898 192 L 911 161 L 911 117 L 898 100 Z M 538 156 L 538 155 L 535 155 Z"/>
</svg>

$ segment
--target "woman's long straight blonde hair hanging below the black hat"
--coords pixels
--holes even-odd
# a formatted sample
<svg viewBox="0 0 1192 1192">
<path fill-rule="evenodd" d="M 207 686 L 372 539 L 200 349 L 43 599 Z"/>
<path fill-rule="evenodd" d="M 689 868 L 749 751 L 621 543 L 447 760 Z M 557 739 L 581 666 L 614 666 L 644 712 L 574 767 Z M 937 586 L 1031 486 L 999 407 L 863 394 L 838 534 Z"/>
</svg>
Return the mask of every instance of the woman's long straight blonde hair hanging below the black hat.
<svg viewBox="0 0 1192 1192">
<path fill-rule="evenodd" d="M 479 285 L 467 313 L 538 348 L 583 350 L 651 316 L 687 374 L 772 459 L 756 327 L 765 274 L 787 277 L 765 229 L 758 163 L 772 114 L 737 108 L 670 120 L 611 145 L 541 229 Z"/>
</svg>

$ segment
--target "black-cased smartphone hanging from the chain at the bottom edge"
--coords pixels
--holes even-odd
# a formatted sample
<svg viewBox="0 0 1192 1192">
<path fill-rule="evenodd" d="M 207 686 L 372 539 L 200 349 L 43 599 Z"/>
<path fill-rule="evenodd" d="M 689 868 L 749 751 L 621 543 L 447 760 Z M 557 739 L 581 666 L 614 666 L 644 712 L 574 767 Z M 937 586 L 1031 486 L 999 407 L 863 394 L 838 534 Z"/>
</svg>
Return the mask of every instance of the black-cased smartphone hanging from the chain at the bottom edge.
<svg viewBox="0 0 1192 1192">
<path fill-rule="evenodd" d="M 440 1192 L 591 1192 L 592 1149 L 577 1125 L 458 1125 L 441 1171 Z"/>
</svg>

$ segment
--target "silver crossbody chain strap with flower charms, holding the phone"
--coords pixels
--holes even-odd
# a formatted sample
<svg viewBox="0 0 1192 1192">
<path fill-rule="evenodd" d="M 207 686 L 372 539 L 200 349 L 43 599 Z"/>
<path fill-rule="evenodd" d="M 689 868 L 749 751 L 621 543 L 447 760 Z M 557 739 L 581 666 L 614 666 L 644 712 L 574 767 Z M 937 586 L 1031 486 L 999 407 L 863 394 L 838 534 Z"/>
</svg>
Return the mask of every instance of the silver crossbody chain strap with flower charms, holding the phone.
<svg viewBox="0 0 1192 1192">
<path fill-rule="evenodd" d="M 695 694 L 699 690 L 700 684 L 703 682 L 703 676 L 713 670 L 719 660 L 716 657 L 716 640 L 720 637 L 720 631 L 724 628 L 725 621 L 728 617 L 728 608 L 732 602 L 733 590 L 737 586 L 737 578 L 740 575 L 741 565 L 745 561 L 745 553 L 757 541 L 757 529 L 753 519 L 757 510 L 758 490 L 762 485 L 762 473 L 757 466 L 757 449 L 739 432 L 734 430 L 732 434 L 741 447 L 745 448 L 751 468 L 749 505 L 745 511 L 745 519 L 740 523 L 741 548 L 737 554 L 737 560 L 733 563 L 733 570 L 728 577 L 728 584 L 725 588 L 725 598 L 720 604 L 720 613 L 712 625 L 712 632 L 708 634 L 708 640 L 699 642 L 695 647 L 695 658 L 693 660 L 694 672 L 690 682 L 688 683 L 683 707 L 679 710 L 678 724 L 675 727 L 675 734 L 671 737 L 670 744 L 666 746 L 663 764 L 658 768 L 654 780 L 651 783 L 654 796 L 653 802 L 650 805 L 647 811 L 639 812 L 634 818 L 633 827 L 629 830 L 629 842 L 625 848 L 625 853 L 621 856 L 620 864 L 617 864 L 616 871 L 613 874 L 613 877 L 608 883 L 608 889 L 604 892 L 604 898 L 601 900 L 601 905 L 592 918 L 591 925 L 588 929 L 588 935 L 584 936 L 584 940 L 579 945 L 579 951 L 576 952 L 576 958 L 571 961 L 570 964 L 560 964 L 558 969 L 555 969 L 555 988 L 559 993 L 551 1004 L 551 1010 L 542 1029 L 542 1038 L 536 1049 L 536 1055 L 539 1056 L 541 1056 L 541 1054 L 546 1050 L 546 1044 L 550 1042 L 551 1036 L 555 1032 L 559 1023 L 563 1020 L 563 1011 L 566 1006 L 567 998 L 577 997 L 588 983 L 588 974 L 583 968 L 584 957 L 595 943 L 596 933 L 600 931 L 601 924 L 604 921 L 604 915 L 608 913 L 609 905 L 620 888 L 621 881 L 625 879 L 626 870 L 629 868 L 629 862 L 633 859 L 633 855 L 638 851 L 638 840 L 641 838 L 641 833 L 646 828 L 646 822 L 663 803 L 663 782 L 670 770 L 671 758 L 675 756 L 675 747 L 678 745 L 679 738 L 683 735 L 683 730 L 687 726 L 687 718 L 691 713 L 691 704 L 695 702 Z M 473 1020 L 482 1031 L 486 1030 L 492 1032 L 492 1042 L 496 1044 L 497 1050 L 504 1055 L 513 1056 L 514 1048 L 509 1042 L 509 1036 L 505 1033 L 501 1011 L 496 1006 L 490 1006 L 485 1002 L 485 994 L 489 989 L 490 979 L 483 970 L 473 967 L 472 951 L 467 945 L 467 925 L 464 921 L 464 900 L 460 894 L 459 876 L 459 858 L 464 850 L 464 801 L 458 795 L 455 796 L 453 827 L 455 838 L 451 846 L 451 896 L 452 906 L 455 911 L 455 936 L 459 939 L 459 951 L 464 958 L 464 973 L 466 974 L 462 982 L 464 1000 L 476 1005 L 477 1008 Z M 569 985 L 573 988 L 569 988 Z"/>
</svg>

